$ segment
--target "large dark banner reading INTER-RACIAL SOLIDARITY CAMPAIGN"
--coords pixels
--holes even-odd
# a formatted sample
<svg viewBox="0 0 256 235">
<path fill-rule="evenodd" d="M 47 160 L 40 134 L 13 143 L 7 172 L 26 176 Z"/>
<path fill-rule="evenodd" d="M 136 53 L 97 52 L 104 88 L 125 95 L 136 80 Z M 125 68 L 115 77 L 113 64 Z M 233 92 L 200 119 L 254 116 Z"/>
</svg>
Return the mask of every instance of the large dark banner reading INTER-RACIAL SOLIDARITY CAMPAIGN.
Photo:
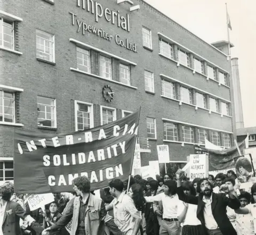
<svg viewBox="0 0 256 235">
<path fill-rule="evenodd" d="M 73 191 L 79 176 L 91 190 L 111 179 L 127 180 L 132 171 L 140 110 L 117 121 L 66 135 L 14 132 L 14 189 L 19 194 Z"/>
</svg>

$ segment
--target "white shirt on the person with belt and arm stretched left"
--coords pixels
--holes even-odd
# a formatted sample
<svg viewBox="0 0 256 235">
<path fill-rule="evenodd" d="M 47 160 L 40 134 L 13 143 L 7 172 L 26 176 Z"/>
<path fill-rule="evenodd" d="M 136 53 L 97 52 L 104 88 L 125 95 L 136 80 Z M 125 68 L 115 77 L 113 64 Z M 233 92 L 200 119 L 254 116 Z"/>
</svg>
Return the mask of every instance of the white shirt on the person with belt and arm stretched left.
<svg viewBox="0 0 256 235">
<path fill-rule="evenodd" d="M 145 197 L 148 203 L 160 202 L 163 203 L 163 219 L 178 219 L 177 211 L 178 204 L 181 202 L 177 194 L 173 196 L 165 195 L 164 192 L 162 194 L 158 194 L 152 197 Z"/>
</svg>

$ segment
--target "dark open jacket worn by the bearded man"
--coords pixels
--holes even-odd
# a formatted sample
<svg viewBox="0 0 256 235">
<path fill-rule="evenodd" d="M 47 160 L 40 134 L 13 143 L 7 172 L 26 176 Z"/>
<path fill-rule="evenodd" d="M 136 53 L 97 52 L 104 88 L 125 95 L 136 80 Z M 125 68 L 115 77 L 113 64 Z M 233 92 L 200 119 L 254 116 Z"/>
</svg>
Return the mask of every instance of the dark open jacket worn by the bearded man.
<svg viewBox="0 0 256 235">
<path fill-rule="evenodd" d="M 182 187 L 177 189 L 179 199 L 185 203 L 198 205 L 197 206 L 197 218 L 202 223 L 201 235 L 207 234 L 204 220 L 204 202 L 203 194 L 199 194 L 198 197 L 193 195 L 185 195 Z M 217 222 L 220 231 L 223 235 L 237 235 L 233 225 L 230 223 L 227 216 L 227 206 L 232 209 L 238 209 L 241 204 L 237 198 L 231 199 L 225 194 L 214 194 L 212 192 L 212 215 Z"/>
</svg>

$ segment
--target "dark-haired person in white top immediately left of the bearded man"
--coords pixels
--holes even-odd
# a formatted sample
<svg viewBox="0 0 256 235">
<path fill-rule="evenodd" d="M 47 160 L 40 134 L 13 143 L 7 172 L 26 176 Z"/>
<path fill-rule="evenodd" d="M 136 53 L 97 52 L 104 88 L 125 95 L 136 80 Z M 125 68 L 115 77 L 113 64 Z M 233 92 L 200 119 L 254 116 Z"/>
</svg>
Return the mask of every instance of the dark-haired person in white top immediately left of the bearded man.
<svg viewBox="0 0 256 235">
<path fill-rule="evenodd" d="M 191 182 L 183 182 L 182 189 L 185 195 L 196 196 L 196 190 Z M 201 222 L 196 217 L 196 210 L 197 205 L 180 201 L 178 205 L 178 220 L 181 223 L 182 235 L 201 234 Z"/>
</svg>

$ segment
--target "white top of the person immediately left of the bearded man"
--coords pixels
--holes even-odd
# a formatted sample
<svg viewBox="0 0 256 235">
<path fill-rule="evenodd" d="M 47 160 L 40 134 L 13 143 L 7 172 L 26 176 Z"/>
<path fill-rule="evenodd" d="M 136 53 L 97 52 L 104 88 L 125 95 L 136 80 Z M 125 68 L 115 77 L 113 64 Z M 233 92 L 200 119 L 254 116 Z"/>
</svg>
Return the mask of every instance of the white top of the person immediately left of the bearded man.
<svg viewBox="0 0 256 235">
<path fill-rule="evenodd" d="M 185 208 L 185 205 L 183 204 L 183 202 L 180 201 L 180 203 L 178 204 L 178 212 L 177 212 L 178 216 L 181 215 L 184 208 Z M 185 216 L 185 220 L 181 223 L 181 226 L 200 225 L 201 222 L 196 217 L 196 211 L 197 211 L 197 205 L 188 204 L 187 214 Z"/>
</svg>

